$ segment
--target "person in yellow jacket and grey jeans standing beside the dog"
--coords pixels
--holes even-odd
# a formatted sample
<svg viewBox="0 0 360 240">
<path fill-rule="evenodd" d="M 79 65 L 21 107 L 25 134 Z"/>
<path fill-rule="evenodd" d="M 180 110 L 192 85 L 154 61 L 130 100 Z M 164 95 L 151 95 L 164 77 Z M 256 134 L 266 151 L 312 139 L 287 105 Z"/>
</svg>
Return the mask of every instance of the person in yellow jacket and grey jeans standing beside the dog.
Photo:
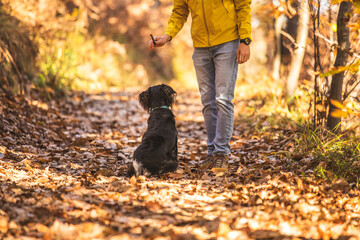
<svg viewBox="0 0 360 240">
<path fill-rule="evenodd" d="M 193 62 L 208 137 L 203 169 L 228 168 L 238 64 L 250 57 L 250 4 L 251 0 L 174 0 L 165 34 L 148 43 L 150 50 L 164 46 L 191 13 Z"/>
</svg>

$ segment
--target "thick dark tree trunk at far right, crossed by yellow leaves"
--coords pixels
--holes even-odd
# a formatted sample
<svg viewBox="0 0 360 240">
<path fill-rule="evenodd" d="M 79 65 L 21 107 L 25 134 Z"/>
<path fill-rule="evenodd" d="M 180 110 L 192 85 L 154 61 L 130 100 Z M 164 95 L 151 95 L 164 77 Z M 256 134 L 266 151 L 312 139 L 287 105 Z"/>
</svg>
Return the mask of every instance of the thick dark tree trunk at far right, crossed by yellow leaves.
<svg viewBox="0 0 360 240">
<path fill-rule="evenodd" d="M 349 22 L 349 16 L 347 15 L 351 11 L 351 2 L 341 2 L 338 18 L 337 18 L 337 40 L 338 44 L 342 49 L 348 50 L 350 48 L 349 41 L 349 28 L 346 26 Z M 348 54 L 342 50 L 338 49 L 335 59 L 335 67 L 345 66 L 348 58 Z M 335 74 L 331 81 L 330 87 L 330 99 L 334 99 L 338 102 L 343 101 L 342 99 L 342 85 L 344 79 L 344 72 Z M 341 118 L 331 116 L 337 107 L 330 103 L 329 115 L 327 120 L 327 127 L 334 131 L 339 132 L 341 130 Z"/>
</svg>

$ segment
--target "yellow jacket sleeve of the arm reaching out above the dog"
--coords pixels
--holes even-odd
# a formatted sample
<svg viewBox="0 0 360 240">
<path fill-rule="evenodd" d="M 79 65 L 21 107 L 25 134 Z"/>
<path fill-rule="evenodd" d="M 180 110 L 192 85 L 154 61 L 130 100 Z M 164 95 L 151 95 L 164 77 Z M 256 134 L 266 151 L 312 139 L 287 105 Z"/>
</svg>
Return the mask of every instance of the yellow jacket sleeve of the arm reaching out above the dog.
<svg viewBox="0 0 360 240">
<path fill-rule="evenodd" d="M 168 26 L 165 30 L 165 34 L 174 38 L 176 34 L 181 30 L 189 16 L 189 8 L 186 0 L 175 0 L 174 8 L 172 10 Z"/>
</svg>

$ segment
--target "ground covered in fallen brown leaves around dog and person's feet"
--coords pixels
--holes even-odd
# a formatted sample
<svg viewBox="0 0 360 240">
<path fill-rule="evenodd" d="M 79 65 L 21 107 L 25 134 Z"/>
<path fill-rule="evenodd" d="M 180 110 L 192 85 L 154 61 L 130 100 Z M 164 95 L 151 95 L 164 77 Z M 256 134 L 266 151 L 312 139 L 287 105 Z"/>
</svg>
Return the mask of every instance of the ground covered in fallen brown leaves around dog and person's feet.
<svg viewBox="0 0 360 240">
<path fill-rule="evenodd" d="M 47 104 L 1 95 L 1 239 L 360 239 L 359 190 L 316 179 L 311 158 L 288 154 L 291 126 L 242 114 L 255 100 L 236 102 L 227 173 L 197 168 L 201 105 L 184 91 L 174 106 L 178 170 L 127 177 L 148 117 L 138 93 Z"/>
</svg>

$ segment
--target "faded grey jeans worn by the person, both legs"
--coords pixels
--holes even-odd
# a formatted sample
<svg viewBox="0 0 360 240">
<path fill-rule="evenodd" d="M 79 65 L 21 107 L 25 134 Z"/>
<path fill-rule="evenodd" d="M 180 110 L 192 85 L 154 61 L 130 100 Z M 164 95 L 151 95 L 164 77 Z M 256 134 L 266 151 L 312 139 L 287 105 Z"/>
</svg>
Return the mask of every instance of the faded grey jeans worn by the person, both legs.
<svg viewBox="0 0 360 240">
<path fill-rule="evenodd" d="M 230 153 L 238 46 L 239 40 L 234 40 L 213 47 L 194 49 L 193 61 L 204 107 L 209 155 Z"/>
</svg>

